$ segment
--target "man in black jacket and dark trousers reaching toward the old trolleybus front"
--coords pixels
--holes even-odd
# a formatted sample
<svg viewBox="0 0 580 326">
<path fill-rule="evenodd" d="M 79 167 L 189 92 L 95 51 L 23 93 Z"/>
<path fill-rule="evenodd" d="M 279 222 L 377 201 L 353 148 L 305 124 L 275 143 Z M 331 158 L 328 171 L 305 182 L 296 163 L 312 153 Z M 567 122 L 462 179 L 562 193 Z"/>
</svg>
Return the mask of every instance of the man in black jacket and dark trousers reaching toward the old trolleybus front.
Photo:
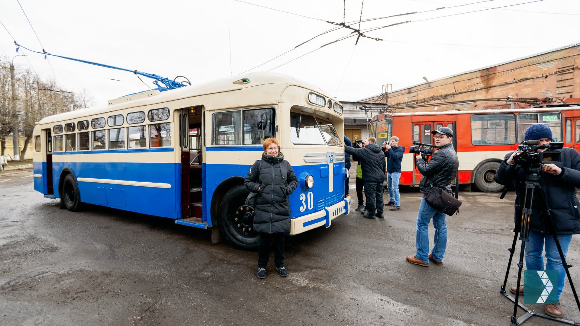
<svg viewBox="0 0 580 326">
<path fill-rule="evenodd" d="M 367 209 L 362 214 L 367 219 L 374 219 L 375 216 L 383 218 L 383 181 L 385 180 L 385 154 L 380 147 L 375 144 L 375 137 L 365 139 L 362 148 L 354 148 L 345 145 L 345 152 L 356 155 L 362 162 L 362 182 L 364 182 L 364 193 L 367 197 Z M 376 215 L 375 215 L 376 209 Z"/>
</svg>

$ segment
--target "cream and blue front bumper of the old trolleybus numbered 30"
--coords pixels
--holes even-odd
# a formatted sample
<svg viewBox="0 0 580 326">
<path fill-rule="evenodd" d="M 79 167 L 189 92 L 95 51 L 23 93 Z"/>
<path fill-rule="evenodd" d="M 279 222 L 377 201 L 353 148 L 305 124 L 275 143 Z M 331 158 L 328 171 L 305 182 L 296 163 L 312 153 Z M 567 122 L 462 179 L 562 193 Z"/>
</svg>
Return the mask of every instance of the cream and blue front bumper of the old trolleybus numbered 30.
<svg viewBox="0 0 580 326">
<path fill-rule="evenodd" d="M 290 219 L 290 234 L 299 234 L 319 226 L 329 227 L 332 220 L 340 215 L 349 215 L 350 195 L 336 204 L 321 211 L 310 213 L 299 218 Z"/>
</svg>

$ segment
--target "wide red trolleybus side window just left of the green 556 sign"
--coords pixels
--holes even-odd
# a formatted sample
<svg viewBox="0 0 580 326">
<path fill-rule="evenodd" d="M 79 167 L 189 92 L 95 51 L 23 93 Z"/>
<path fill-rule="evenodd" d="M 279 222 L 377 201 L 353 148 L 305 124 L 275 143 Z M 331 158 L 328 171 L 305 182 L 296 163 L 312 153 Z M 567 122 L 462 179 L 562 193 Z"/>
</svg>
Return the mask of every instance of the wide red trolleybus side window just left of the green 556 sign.
<svg viewBox="0 0 580 326">
<path fill-rule="evenodd" d="M 474 114 L 471 117 L 472 144 L 511 145 L 516 143 L 514 114 Z"/>
</svg>

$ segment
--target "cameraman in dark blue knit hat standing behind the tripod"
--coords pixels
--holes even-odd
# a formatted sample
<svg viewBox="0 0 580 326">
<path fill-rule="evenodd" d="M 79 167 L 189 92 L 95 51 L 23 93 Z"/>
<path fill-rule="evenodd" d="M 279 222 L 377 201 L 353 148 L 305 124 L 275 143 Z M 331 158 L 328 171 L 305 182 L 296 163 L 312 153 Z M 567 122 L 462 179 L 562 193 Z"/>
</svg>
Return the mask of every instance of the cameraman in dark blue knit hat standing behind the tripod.
<svg viewBox="0 0 580 326">
<path fill-rule="evenodd" d="M 525 131 L 525 140 L 539 140 L 540 144 L 552 142 L 552 130 L 546 125 L 531 125 Z M 544 148 L 538 151 L 545 151 Z M 546 196 L 550 216 L 554 230 L 560 241 L 564 258 L 568 252 L 572 234 L 580 233 L 580 202 L 576 197 L 577 188 L 580 187 L 580 154 L 573 148 L 562 148 L 560 152 L 560 162 L 556 164 L 543 164 L 540 172 L 540 185 Z M 507 153 L 505 160 L 495 173 L 495 182 L 499 184 L 514 184 L 516 189 L 515 222 L 516 229 L 520 230 L 520 217 L 522 211 L 522 201 L 525 196 L 525 172 L 517 169 L 514 161 L 520 152 Z M 532 216 L 530 219 L 530 236 L 525 245 L 525 267 L 528 270 L 543 270 L 542 252 L 545 243 L 546 247 L 546 270 L 558 271 L 558 300 L 564 288 L 566 272 L 562 266 L 560 253 L 554 242 L 553 235 L 550 234 L 548 225 L 543 223 L 546 218 L 541 205 L 541 197 L 538 194 L 532 204 Z M 520 294 L 524 293 L 524 286 L 520 285 Z M 516 293 L 516 287 L 512 287 L 512 293 Z M 557 305 L 546 305 L 546 314 L 555 318 L 561 318 L 563 313 L 560 303 Z"/>
</svg>

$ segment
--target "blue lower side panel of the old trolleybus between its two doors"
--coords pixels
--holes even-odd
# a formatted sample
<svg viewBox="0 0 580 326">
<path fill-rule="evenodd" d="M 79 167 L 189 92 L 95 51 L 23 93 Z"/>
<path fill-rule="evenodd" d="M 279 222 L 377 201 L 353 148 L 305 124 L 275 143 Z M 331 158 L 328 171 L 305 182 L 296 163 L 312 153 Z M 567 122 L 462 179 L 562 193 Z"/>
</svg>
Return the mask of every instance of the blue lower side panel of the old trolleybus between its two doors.
<svg viewBox="0 0 580 326">
<path fill-rule="evenodd" d="M 176 184 L 180 166 L 175 163 L 53 162 L 55 197 L 60 197 L 58 185 L 64 168 L 71 169 L 76 178 L 169 183 L 172 186 L 169 189 L 95 182 L 78 182 L 78 188 L 82 202 L 176 219 L 181 216 L 180 182 Z"/>
</svg>

